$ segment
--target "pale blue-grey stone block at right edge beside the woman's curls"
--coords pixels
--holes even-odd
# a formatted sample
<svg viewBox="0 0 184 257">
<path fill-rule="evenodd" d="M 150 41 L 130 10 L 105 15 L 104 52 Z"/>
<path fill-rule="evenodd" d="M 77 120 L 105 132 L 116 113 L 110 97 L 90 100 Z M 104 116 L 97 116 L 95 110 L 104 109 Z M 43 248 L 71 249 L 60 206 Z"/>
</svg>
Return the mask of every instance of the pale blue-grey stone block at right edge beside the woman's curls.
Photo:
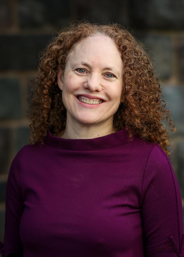
<svg viewBox="0 0 184 257">
<path fill-rule="evenodd" d="M 166 108 L 171 111 L 171 117 L 175 123 L 178 132 L 177 135 L 183 135 L 184 127 L 184 87 L 162 85 L 163 100 L 166 102 Z"/>
</svg>

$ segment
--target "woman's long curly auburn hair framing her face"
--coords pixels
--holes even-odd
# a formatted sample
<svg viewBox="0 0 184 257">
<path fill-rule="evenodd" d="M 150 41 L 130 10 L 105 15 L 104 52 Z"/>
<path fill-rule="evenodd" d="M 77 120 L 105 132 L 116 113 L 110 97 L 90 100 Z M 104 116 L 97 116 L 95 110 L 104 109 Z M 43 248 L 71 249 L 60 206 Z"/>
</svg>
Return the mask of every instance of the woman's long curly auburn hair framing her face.
<svg viewBox="0 0 184 257">
<path fill-rule="evenodd" d="M 169 133 L 176 132 L 177 129 L 170 118 L 170 111 L 165 108 L 165 101 L 160 99 L 161 87 L 154 75 L 149 55 L 125 28 L 111 22 L 91 24 L 82 20 L 71 23 L 62 28 L 42 53 L 36 78 L 37 87 L 35 90 L 32 88 L 33 97 L 28 99 L 32 106 L 27 108 L 31 121 L 29 143 L 43 144 L 48 128 L 55 136 L 65 129 L 66 108 L 62 102 L 62 91 L 57 85 L 58 69 L 64 72 L 67 57 L 76 43 L 94 35 L 112 38 L 124 63 L 124 102 L 114 114 L 114 129 L 119 131 L 125 128 L 130 140 L 133 140 L 134 134 L 146 141 L 158 143 L 169 156 Z M 170 126 L 170 131 L 167 125 Z"/>
</svg>

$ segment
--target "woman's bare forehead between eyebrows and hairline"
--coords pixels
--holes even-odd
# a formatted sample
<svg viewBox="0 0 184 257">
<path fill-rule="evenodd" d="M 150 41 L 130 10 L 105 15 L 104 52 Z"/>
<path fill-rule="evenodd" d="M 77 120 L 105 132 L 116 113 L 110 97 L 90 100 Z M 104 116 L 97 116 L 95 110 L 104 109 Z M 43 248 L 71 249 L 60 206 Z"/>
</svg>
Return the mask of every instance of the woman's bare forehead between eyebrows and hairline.
<svg viewBox="0 0 184 257">
<path fill-rule="evenodd" d="M 112 38 L 107 36 L 91 36 L 77 43 L 69 58 L 72 63 L 91 63 L 104 66 L 107 64 L 123 68 L 121 53 Z"/>
</svg>

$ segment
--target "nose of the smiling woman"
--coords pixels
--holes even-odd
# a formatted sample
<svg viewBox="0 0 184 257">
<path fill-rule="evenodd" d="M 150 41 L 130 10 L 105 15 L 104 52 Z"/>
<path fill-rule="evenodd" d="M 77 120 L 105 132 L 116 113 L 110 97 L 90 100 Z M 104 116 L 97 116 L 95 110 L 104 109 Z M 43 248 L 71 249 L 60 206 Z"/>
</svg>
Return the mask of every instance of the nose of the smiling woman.
<svg viewBox="0 0 184 257">
<path fill-rule="evenodd" d="M 101 77 L 98 73 L 91 73 L 87 77 L 87 81 L 84 83 L 84 88 L 89 89 L 90 91 L 101 91 L 102 86 L 101 86 Z"/>
</svg>

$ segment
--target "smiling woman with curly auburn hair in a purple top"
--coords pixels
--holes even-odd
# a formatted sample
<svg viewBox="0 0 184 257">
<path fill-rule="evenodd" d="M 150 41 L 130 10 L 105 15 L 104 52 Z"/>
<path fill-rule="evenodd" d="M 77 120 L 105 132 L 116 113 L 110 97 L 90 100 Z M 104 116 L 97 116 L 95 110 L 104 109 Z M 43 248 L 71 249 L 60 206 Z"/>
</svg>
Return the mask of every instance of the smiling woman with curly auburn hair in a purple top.
<svg viewBox="0 0 184 257">
<path fill-rule="evenodd" d="M 163 120 L 176 129 L 141 45 L 117 24 L 71 24 L 43 54 L 37 84 L 1 254 L 184 256 Z"/>
</svg>

